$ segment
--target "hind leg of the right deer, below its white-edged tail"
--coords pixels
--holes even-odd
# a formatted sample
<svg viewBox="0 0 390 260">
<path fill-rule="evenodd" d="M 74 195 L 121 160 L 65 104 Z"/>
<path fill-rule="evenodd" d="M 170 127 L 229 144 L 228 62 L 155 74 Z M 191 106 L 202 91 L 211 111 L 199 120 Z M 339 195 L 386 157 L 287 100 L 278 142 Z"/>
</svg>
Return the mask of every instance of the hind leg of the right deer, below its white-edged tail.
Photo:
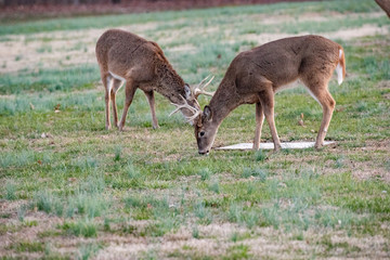
<svg viewBox="0 0 390 260">
<path fill-rule="evenodd" d="M 321 84 L 320 88 L 317 87 L 318 86 L 309 86 L 308 89 L 323 108 L 323 119 L 314 144 L 315 148 L 321 148 L 324 145 L 325 135 L 330 123 L 336 102 L 327 89 L 327 83 Z"/>
</svg>

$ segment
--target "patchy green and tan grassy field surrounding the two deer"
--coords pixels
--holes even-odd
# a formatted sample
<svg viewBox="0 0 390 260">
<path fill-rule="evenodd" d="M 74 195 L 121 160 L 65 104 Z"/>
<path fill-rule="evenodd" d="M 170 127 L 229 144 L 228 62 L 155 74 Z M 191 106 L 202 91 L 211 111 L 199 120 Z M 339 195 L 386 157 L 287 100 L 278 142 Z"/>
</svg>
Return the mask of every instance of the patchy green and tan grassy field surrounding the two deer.
<svg viewBox="0 0 390 260">
<path fill-rule="evenodd" d="M 94 44 L 110 27 L 158 42 L 191 84 L 214 75 L 211 90 L 240 51 L 306 34 L 339 42 L 348 75 L 329 84 L 337 105 L 326 136 L 336 145 L 199 156 L 193 128 L 168 117 L 174 107 L 158 94 L 152 129 L 140 91 L 126 130 L 106 131 Z M 0 257 L 390 258 L 389 32 L 370 0 L 4 22 Z M 314 141 L 322 109 L 306 90 L 275 100 L 281 140 Z M 240 106 L 214 146 L 253 134 L 255 106 Z"/>
</svg>

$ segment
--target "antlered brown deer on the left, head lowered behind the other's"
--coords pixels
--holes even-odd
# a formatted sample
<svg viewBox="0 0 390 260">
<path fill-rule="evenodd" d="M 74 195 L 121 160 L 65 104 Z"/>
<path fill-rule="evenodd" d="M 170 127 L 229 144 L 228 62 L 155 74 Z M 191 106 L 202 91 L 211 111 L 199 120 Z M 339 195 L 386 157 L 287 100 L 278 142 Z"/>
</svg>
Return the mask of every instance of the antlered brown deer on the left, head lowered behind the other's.
<svg viewBox="0 0 390 260">
<path fill-rule="evenodd" d="M 113 105 L 114 123 L 123 130 L 129 106 L 136 89 L 141 89 L 148 101 L 152 112 L 152 127 L 157 129 L 158 120 L 155 112 L 154 91 L 157 91 L 171 103 L 183 104 L 177 107 L 193 123 L 192 114 L 200 108 L 197 98 L 199 94 L 212 95 L 205 91 L 212 78 L 204 79 L 198 86 L 190 86 L 173 69 L 161 48 L 130 31 L 108 29 L 98 40 L 95 54 L 100 67 L 101 78 L 105 89 L 105 128 L 109 130 L 109 102 Z M 125 107 L 120 121 L 116 105 L 116 93 L 126 82 Z M 184 105 L 185 104 L 185 105 Z"/>
</svg>

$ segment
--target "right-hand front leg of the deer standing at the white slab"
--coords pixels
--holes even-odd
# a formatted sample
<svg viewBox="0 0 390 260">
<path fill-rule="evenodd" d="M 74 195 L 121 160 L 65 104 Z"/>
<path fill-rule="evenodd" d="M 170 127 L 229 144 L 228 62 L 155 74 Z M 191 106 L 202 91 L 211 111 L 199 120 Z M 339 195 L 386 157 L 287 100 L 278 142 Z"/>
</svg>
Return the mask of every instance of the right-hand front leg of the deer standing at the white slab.
<svg viewBox="0 0 390 260">
<path fill-rule="evenodd" d="M 259 93 L 261 106 L 264 109 L 265 119 L 270 126 L 272 140 L 274 143 L 274 151 L 277 152 L 282 148 L 281 140 L 278 139 L 275 120 L 274 120 L 274 93 L 272 89 Z"/>
</svg>

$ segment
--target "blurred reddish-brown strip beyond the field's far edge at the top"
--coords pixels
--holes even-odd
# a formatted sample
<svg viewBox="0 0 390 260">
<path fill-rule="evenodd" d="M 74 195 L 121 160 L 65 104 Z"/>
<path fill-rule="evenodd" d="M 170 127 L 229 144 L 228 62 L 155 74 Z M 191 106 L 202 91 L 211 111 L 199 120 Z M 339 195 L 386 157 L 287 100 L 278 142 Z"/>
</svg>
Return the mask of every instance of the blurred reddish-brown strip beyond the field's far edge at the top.
<svg viewBox="0 0 390 260">
<path fill-rule="evenodd" d="M 308 0 L 0 0 L 0 15 L 10 18 L 30 18 L 303 1 Z"/>
</svg>

